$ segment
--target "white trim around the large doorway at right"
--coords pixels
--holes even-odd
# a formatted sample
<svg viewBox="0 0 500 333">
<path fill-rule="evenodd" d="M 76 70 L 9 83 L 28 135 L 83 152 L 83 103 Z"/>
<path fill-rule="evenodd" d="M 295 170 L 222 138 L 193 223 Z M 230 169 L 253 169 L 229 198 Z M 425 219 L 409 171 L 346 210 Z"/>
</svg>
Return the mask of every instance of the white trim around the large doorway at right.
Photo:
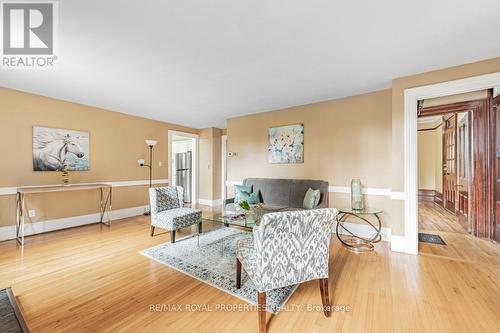
<svg viewBox="0 0 500 333">
<path fill-rule="evenodd" d="M 500 86 L 500 72 L 437 83 L 404 91 L 404 188 L 405 232 L 393 251 L 418 254 L 418 142 L 417 102 Z M 394 237 L 394 236 L 393 236 Z"/>
</svg>

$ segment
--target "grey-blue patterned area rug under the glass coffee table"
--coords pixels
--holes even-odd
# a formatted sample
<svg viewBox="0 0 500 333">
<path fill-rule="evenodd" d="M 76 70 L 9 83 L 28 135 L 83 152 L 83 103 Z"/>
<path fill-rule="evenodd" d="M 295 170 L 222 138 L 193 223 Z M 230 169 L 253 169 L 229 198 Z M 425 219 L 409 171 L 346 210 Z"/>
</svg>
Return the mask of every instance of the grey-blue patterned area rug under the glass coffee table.
<svg viewBox="0 0 500 333">
<path fill-rule="evenodd" d="M 178 242 L 161 244 L 140 254 L 192 276 L 251 304 L 257 304 L 257 289 L 244 269 L 241 288 L 236 289 L 236 254 L 238 240 L 251 237 L 247 231 L 221 228 Z M 297 286 L 267 293 L 267 311 L 276 314 L 283 308 Z"/>
</svg>

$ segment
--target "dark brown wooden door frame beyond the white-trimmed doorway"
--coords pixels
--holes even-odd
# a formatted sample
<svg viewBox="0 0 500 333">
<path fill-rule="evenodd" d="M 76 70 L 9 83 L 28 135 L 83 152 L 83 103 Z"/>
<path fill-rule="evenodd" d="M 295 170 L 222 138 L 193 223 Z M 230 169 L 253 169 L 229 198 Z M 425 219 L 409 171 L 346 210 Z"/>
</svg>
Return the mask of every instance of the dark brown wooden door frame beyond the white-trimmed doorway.
<svg viewBox="0 0 500 333">
<path fill-rule="evenodd" d="M 469 210 L 469 214 L 473 235 L 488 239 L 494 238 L 495 231 L 495 123 L 492 100 L 491 90 L 488 90 L 488 97 L 485 99 L 426 107 L 417 111 L 419 118 L 472 111 L 472 121 L 469 126 L 469 140 L 473 142 L 470 146 L 472 188 L 469 187 L 472 209 Z"/>
</svg>

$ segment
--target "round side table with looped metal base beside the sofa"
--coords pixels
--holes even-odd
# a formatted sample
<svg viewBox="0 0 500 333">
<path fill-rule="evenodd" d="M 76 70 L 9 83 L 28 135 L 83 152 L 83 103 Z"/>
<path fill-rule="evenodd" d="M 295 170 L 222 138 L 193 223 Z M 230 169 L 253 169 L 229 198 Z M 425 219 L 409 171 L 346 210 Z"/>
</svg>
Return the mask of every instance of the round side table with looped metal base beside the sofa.
<svg viewBox="0 0 500 333">
<path fill-rule="evenodd" d="M 377 209 L 363 209 L 363 210 L 354 210 L 351 208 L 339 209 L 339 214 L 337 215 L 337 227 L 336 234 L 339 241 L 342 243 L 344 247 L 348 250 L 360 253 L 373 251 L 373 244 L 380 242 L 382 240 L 382 236 L 380 231 L 382 230 L 382 222 L 380 221 L 381 210 Z M 368 216 L 373 216 L 370 221 Z M 367 225 L 373 229 L 373 235 L 369 238 L 361 237 L 357 235 L 353 230 L 354 223 L 351 226 L 347 226 L 347 219 L 351 217 L 361 221 L 360 225 Z"/>
</svg>

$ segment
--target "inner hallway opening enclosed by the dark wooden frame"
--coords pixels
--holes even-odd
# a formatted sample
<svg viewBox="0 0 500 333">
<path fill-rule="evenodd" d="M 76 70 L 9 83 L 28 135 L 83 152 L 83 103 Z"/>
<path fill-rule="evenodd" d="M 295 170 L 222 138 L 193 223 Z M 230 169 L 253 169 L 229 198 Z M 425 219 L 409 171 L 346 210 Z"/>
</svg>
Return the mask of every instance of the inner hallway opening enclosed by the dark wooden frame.
<svg viewBox="0 0 500 333">
<path fill-rule="evenodd" d="M 418 119 L 419 233 L 471 232 L 469 112 Z"/>
</svg>

